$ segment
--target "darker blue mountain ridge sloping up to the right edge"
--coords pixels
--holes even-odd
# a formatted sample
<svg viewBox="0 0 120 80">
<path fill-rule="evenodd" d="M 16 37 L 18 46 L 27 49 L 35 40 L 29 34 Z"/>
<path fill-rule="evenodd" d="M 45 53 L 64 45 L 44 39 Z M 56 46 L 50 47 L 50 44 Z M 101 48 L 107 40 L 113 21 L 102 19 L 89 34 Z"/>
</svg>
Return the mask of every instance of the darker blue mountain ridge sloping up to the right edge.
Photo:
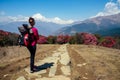
<svg viewBox="0 0 120 80">
<path fill-rule="evenodd" d="M 79 21 L 59 29 L 55 34 L 73 35 L 79 32 L 100 34 L 102 36 L 120 35 L 120 13 Z"/>
</svg>

